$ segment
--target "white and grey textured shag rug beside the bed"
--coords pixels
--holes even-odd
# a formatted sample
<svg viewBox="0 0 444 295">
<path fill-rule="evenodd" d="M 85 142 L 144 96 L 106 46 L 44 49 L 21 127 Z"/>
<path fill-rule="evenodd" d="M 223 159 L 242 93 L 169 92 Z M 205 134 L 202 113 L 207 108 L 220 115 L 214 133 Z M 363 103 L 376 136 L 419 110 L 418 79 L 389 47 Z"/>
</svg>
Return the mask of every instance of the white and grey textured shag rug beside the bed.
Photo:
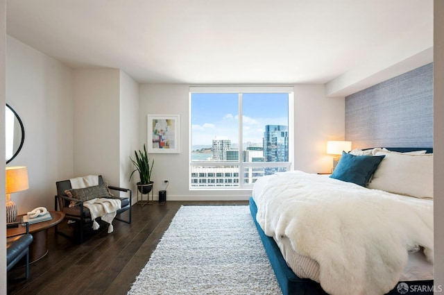
<svg viewBox="0 0 444 295">
<path fill-rule="evenodd" d="M 128 295 L 282 294 L 246 205 L 185 205 Z"/>
</svg>

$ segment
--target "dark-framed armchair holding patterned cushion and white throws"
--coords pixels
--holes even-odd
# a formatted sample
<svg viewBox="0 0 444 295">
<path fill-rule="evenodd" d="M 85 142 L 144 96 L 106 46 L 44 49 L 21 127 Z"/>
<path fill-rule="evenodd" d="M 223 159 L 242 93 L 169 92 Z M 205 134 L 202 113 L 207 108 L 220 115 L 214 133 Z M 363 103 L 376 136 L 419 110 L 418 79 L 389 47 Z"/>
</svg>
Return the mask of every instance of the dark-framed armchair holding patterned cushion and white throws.
<svg viewBox="0 0 444 295">
<path fill-rule="evenodd" d="M 103 178 L 101 175 L 99 175 L 99 185 L 103 185 Z M 79 241 L 80 244 L 83 243 L 84 239 L 84 227 L 87 224 L 91 224 L 94 220 L 91 218 L 91 214 L 89 210 L 83 205 L 83 201 L 79 201 L 78 199 L 73 199 L 67 196 L 65 191 L 67 189 L 71 189 L 71 182 L 69 180 L 61 180 L 56 182 L 57 186 L 57 195 L 55 197 L 54 201 L 54 207 L 55 210 L 60 210 L 62 212 L 65 212 L 65 219 L 76 221 L 78 223 L 78 226 L 80 227 L 80 237 Z M 131 203 L 132 203 L 132 192 L 131 189 L 126 189 L 123 187 L 114 187 L 112 185 L 108 185 L 108 189 L 110 191 L 116 191 L 116 192 L 127 192 L 128 196 L 112 196 L 112 199 L 119 199 L 121 201 L 121 209 L 117 210 L 117 216 L 114 218 L 114 220 L 119 220 L 126 222 L 127 224 L 131 223 Z M 74 207 L 69 207 L 69 204 L 71 201 L 74 201 L 78 203 L 78 205 Z M 126 210 L 129 210 L 129 217 L 128 219 L 121 219 L 119 214 L 122 212 L 125 212 Z M 62 235 L 63 237 L 67 237 L 68 239 L 74 240 L 74 237 L 71 237 L 69 235 L 66 235 L 65 233 L 62 233 L 58 230 L 58 226 L 55 227 L 56 233 L 59 235 Z"/>
</svg>

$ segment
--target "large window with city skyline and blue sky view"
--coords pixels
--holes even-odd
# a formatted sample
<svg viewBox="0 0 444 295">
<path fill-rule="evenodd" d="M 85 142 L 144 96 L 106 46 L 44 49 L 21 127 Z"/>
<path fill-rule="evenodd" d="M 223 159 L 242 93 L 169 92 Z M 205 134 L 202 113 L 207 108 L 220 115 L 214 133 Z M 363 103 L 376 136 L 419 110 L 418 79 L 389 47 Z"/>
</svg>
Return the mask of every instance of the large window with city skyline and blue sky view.
<svg viewBox="0 0 444 295">
<path fill-rule="evenodd" d="M 189 100 L 191 189 L 248 189 L 291 168 L 292 87 L 190 87 Z"/>
</svg>

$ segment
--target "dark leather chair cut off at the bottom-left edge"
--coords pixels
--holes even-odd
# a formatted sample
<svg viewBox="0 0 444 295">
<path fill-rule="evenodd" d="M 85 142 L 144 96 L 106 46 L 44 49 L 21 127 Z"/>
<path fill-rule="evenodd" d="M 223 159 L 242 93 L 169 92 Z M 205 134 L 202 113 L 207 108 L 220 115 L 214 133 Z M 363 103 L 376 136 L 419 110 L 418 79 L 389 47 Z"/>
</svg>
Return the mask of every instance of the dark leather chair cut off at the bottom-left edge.
<svg viewBox="0 0 444 295">
<path fill-rule="evenodd" d="M 6 224 L 6 228 L 18 228 L 19 223 Z M 29 245 L 33 242 L 33 236 L 29 233 L 29 225 L 26 222 L 26 233 L 6 239 L 6 271 L 10 271 L 22 258 L 26 256 L 25 278 L 29 278 Z"/>
</svg>

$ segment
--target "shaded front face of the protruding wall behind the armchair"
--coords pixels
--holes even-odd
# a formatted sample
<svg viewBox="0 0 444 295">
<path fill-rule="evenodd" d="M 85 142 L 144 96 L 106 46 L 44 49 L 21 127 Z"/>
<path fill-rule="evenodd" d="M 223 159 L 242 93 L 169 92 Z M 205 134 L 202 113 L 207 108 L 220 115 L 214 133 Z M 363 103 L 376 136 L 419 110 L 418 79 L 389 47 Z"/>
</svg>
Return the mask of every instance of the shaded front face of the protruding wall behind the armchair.
<svg viewBox="0 0 444 295">
<path fill-rule="evenodd" d="M 74 70 L 74 177 L 120 183 L 120 70 Z"/>
</svg>

